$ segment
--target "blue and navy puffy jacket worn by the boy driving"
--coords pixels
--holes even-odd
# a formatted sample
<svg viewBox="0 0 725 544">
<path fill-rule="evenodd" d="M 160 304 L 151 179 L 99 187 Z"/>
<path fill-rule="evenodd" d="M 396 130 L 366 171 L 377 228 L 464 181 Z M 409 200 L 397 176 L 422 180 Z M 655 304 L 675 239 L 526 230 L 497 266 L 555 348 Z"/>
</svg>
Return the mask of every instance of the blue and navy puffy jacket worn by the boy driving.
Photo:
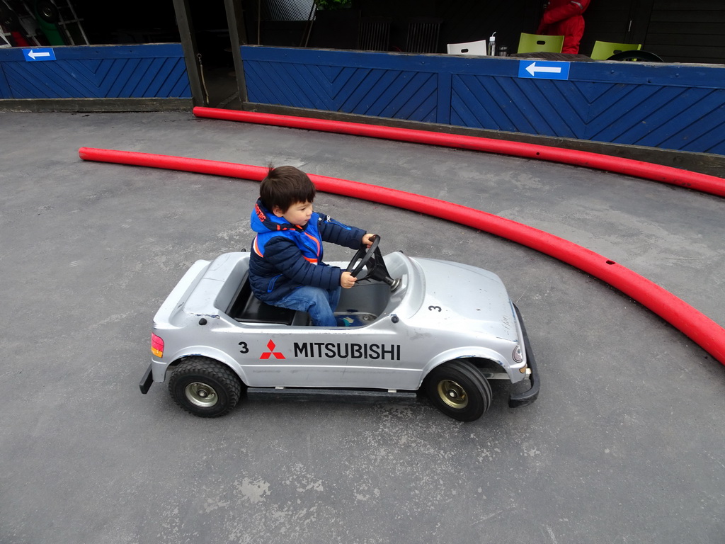
<svg viewBox="0 0 725 544">
<path fill-rule="evenodd" d="M 291 225 L 259 200 L 250 221 L 257 236 L 252 242 L 249 285 L 258 299 L 270 304 L 303 285 L 328 290 L 339 287 L 342 271 L 323 263 L 322 242 L 357 250 L 365 236 L 360 228 L 318 213 L 312 213 L 305 226 Z"/>
</svg>

